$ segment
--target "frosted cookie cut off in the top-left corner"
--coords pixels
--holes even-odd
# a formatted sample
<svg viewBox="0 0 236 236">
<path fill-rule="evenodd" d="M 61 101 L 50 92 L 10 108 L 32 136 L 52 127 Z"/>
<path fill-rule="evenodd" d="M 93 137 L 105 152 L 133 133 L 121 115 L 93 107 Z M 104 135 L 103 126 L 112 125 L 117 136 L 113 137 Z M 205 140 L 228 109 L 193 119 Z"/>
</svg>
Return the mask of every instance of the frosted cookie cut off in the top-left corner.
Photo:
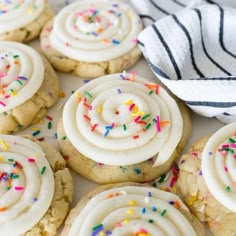
<svg viewBox="0 0 236 236">
<path fill-rule="evenodd" d="M 0 40 L 28 42 L 52 17 L 45 0 L 0 0 Z"/>
</svg>

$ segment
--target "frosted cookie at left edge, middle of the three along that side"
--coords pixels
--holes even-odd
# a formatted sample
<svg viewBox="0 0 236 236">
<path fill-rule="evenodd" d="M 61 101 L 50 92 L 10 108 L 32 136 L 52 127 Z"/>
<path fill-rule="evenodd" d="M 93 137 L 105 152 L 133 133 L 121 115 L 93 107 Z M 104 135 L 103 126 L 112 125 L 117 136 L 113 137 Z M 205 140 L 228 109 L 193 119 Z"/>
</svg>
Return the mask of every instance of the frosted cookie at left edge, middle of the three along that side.
<svg viewBox="0 0 236 236">
<path fill-rule="evenodd" d="M 0 133 L 38 122 L 58 96 L 59 82 L 46 59 L 26 45 L 0 42 Z"/>
</svg>

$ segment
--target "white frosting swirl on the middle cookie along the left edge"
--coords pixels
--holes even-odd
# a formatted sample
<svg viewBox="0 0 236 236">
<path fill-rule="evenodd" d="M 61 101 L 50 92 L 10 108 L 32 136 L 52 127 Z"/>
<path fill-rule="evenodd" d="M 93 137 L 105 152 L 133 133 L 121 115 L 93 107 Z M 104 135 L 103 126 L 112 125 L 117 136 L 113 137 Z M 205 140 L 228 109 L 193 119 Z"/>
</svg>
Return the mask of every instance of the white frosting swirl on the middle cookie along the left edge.
<svg viewBox="0 0 236 236">
<path fill-rule="evenodd" d="M 0 42 L 0 112 L 30 99 L 43 79 L 43 61 L 33 48 L 15 42 Z"/>
</svg>

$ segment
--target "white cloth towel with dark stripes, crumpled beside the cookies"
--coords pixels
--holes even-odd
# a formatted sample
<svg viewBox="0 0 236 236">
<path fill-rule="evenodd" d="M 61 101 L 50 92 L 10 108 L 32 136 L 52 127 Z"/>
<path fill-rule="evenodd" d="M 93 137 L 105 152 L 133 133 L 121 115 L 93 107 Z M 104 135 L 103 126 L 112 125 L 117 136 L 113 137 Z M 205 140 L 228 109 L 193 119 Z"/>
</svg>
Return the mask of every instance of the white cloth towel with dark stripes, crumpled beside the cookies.
<svg viewBox="0 0 236 236">
<path fill-rule="evenodd" d="M 131 1 L 156 76 L 195 112 L 236 121 L 236 0 Z"/>
</svg>

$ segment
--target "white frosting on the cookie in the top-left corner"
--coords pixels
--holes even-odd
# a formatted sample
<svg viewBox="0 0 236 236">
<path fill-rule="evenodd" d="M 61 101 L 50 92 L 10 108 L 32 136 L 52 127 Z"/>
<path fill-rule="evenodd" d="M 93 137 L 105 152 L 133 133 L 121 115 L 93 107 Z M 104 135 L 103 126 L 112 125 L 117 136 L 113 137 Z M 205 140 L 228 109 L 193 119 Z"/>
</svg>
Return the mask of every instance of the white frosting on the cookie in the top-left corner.
<svg viewBox="0 0 236 236">
<path fill-rule="evenodd" d="M 44 0 L 0 0 L 0 34 L 33 22 L 44 6 Z"/>
</svg>

